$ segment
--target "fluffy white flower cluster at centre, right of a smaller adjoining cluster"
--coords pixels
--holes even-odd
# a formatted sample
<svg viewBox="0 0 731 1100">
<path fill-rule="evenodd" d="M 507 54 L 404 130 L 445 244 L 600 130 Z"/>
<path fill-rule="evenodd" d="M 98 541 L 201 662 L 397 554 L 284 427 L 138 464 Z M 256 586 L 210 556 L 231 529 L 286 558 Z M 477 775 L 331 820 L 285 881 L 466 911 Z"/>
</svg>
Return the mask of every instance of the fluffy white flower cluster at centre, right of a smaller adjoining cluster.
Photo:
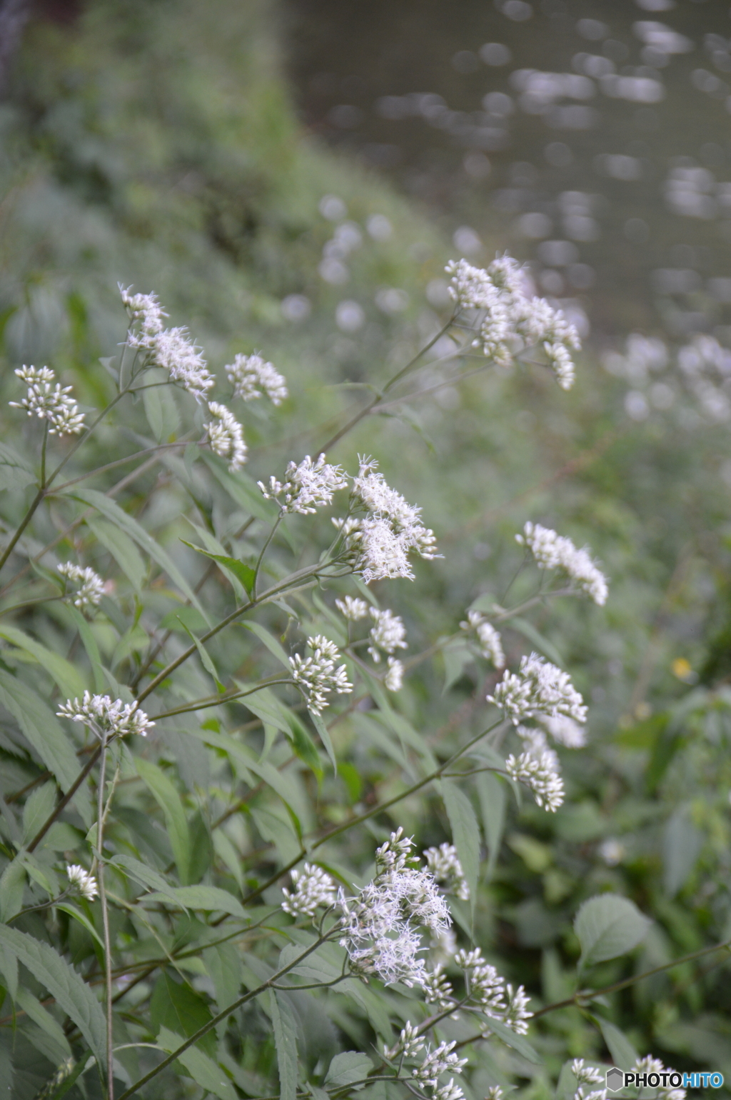
<svg viewBox="0 0 731 1100">
<path fill-rule="evenodd" d="M 421 508 L 409 504 L 376 472 L 377 462 L 362 458 L 359 463 L 353 479 L 353 497 L 367 515 L 336 522 L 354 557 L 355 569 L 366 584 L 398 576 L 412 581 L 411 551 L 430 561 L 439 557 L 434 532 L 421 522 Z"/>
</svg>

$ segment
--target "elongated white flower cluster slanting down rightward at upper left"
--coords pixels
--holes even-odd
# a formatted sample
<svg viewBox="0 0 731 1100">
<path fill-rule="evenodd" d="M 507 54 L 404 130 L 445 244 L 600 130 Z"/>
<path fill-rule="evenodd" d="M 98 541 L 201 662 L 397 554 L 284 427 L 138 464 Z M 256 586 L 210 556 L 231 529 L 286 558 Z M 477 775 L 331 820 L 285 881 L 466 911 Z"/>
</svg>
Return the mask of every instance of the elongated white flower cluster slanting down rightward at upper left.
<svg viewBox="0 0 731 1100">
<path fill-rule="evenodd" d="M 208 370 L 201 349 L 196 346 L 187 329 L 163 328 L 167 314 L 157 295 L 130 294 L 131 289 L 120 285 L 122 302 L 131 320 L 128 346 L 144 352 L 145 366 L 162 367 L 171 382 L 179 382 L 196 400 L 204 399 L 215 378 Z"/>
</svg>

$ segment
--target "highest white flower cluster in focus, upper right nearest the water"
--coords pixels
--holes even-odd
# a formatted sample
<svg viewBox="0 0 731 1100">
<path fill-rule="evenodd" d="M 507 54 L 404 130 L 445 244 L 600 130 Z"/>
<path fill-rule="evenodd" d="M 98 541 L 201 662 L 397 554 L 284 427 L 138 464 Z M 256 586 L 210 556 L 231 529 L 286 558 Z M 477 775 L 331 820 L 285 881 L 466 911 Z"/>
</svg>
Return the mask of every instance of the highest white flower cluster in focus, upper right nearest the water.
<svg viewBox="0 0 731 1100">
<path fill-rule="evenodd" d="M 578 333 L 560 309 L 545 298 L 528 298 L 519 264 L 511 256 L 499 256 L 487 271 L 473 267 L 466 260 L 451 261 L 450 294 L 457 309 L 476 309 L 480 346 L 485 355 L 501 366 L 512 363 L 521 348 L 541 345 L 549 366 L 562 389 L 574 384 L 571 351 L 582 344 Z"/>
</svg>

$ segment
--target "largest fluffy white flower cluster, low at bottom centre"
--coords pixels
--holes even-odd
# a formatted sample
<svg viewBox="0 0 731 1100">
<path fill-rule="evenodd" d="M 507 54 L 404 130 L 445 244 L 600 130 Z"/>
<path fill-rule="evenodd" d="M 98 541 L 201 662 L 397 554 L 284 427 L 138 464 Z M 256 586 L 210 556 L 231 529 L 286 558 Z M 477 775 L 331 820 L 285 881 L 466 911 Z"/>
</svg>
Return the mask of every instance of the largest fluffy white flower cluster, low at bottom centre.
<svg viewBox="0 0 731 1100">
<path fill-rule="evenodd" d="M 412 867 L 413 842 L 403 829 L 391 833 L 376 851 L 376 877 L 356 898 L 339 893 L 341 946 L 351 969 L 367 980 L 422 986 L 427 976 L 419 928 L 434 935 L 448 931 L 450 910 L 429 871 Z"/>
</svg>

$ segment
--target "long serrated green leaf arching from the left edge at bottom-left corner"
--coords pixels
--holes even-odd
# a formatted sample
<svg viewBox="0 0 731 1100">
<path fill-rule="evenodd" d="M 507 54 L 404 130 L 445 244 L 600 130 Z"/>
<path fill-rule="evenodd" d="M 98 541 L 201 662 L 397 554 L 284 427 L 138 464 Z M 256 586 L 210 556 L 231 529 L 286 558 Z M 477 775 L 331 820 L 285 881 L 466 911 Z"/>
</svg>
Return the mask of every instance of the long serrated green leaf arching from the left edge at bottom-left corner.
<svg viewBox="0 0 731 1100">
<path fill-rule="evenodd" d="M 48 944 L 0 925 L 0 944 L 18 958 L 70 1016 L 100 1065 L 107 1064 L 107 1025 L 99 1001 L 69 964 Z"/>
</svg>

